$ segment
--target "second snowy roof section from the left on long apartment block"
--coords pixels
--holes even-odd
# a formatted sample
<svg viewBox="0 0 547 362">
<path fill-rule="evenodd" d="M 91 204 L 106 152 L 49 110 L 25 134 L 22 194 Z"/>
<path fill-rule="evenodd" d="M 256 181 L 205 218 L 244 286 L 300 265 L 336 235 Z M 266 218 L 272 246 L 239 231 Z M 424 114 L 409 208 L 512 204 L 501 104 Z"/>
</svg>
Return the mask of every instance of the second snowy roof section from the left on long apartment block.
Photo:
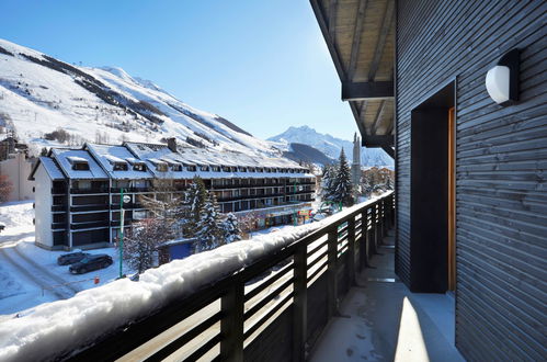
<svg viewBox="0 0 547 362">
<path fill-rule="evenodd" d="M 135 155 L 124 146 L 87 144 L 86 147 L 113 179 L 140 180 L 153 178 L 148 169 L 146 171 L 136 171 L 133 167 L 127 167 L 127 170 L 114 170 L 114 163 L 125 163 L 128 159 L 136 160 Z"/>
</svg>

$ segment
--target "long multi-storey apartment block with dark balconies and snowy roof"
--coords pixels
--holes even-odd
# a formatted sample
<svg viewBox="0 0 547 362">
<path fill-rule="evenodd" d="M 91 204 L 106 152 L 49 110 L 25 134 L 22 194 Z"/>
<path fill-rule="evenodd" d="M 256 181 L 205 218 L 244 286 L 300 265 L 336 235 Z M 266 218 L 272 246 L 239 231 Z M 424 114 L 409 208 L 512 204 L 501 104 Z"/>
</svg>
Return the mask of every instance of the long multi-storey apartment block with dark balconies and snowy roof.
<svg viewBox="0 0 547 362">
<path fill-rule="evenodd" d="M 117 240 L 121 201 L 126 231 L 149 217 L 140 196 L 180 197 L 200 177 L 223 213 L 253 212 L 257 227 L 286 224 L 310 210 L 315 177 L 297 163 L 193 147 L 124 143 L 53 148 L 31 172 L 36 181 L 36 244 L 100 248 Z M 124 197 L 122 200 L 122 190 Z"/>
</svg>

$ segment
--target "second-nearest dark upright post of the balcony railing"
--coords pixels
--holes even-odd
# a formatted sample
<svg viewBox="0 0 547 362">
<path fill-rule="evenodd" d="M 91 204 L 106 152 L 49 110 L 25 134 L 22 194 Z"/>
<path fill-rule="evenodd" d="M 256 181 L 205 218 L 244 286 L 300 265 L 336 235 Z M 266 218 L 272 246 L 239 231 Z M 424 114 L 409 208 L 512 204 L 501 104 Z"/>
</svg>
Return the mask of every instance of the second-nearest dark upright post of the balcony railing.
<svg viewBox="0 0 547 362">
<path fill-rule="evenodd" d="M 306 360 L 308 338 L 308 247 L 303 244 L 294 256 L 293 361 Z"/>
</svg>

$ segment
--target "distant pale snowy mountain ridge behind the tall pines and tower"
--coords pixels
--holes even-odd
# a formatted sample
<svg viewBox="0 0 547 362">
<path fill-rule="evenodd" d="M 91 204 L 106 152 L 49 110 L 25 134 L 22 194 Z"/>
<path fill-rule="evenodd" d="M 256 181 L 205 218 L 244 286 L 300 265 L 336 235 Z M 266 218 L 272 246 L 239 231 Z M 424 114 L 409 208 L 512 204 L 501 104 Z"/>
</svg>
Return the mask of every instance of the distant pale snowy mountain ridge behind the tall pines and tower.
<svg viewBox="0 0 547 362">
<path fill-rule="evenodd" d="M 333 137 L 328 134 L 318 133 L 316 129 L 301 126 L 288 127 L 284 133 L 267 138 L 280 143 L 280 147 L 289 148 L 290 144 L 305 144 L 311 146 L 330 158 L 338 159 L 340 151 L 344 152 L 350 160 L 353 159 L 353 143 Z M 381 148 L 361 148 L 361 165 L 363 166 L 394 166 L 394 159 Z"/>
</svg>

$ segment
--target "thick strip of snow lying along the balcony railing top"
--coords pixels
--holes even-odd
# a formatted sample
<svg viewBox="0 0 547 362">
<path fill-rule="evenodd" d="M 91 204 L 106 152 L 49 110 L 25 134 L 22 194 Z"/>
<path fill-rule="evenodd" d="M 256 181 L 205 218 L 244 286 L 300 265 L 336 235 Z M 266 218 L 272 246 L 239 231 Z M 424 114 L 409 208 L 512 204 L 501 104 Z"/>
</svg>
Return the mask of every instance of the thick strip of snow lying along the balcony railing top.
<svg viewBox="0 0 547 362">
<path fill-rule="evenodd" d="M 80 292 L 70 299 L 39 305 L 29 315 L 0 323 L 0 361 L 52 359 L 89 344 L 107 330 L 149 315 L 169 301 L 239 270 L 362 205 L 319 223 L 285 227 L 174 260 L 146 271 L 139 282 L 118 280 Z"/>
</svg>

